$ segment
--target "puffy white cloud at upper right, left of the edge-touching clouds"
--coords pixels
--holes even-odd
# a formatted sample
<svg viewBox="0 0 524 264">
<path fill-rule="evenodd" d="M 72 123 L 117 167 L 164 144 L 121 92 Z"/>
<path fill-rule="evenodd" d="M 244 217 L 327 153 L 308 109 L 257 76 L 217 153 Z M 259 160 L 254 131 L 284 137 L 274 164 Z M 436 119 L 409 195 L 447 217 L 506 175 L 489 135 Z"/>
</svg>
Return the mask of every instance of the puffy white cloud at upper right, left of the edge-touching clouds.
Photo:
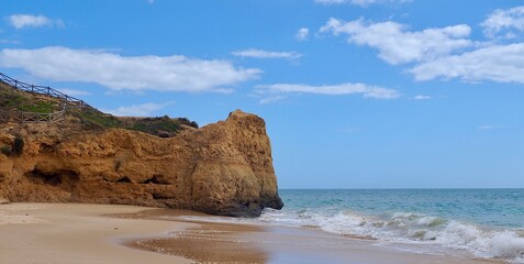
<svg viewBox="0 0 524 264">
<path fill-rule="evenodd" d="M 361 19 L 350 22 L 330 19 L 321 32 L 345 34 L 348 43 L 375 47 L 381 59 L 393 65 L 432 61 L 472 45 L 465 38 L 471 33 L 466 24 L 408 31 L 405 25 L 392 21 L 367 23 Z"/>
</svg>

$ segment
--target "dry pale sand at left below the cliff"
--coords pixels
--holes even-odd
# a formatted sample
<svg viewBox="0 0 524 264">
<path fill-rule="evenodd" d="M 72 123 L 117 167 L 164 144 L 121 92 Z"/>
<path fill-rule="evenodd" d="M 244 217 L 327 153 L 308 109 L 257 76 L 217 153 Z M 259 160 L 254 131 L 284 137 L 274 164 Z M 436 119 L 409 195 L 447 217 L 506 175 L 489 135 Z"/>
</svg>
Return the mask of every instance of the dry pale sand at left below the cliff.
<svg viewBox="0 0 524 264">
<path fill-rule="evenodd" d="M 119 219 L 104 213 L 132 213 L 143 207 L 78 204 L 10 204 L 0 206 L 2 264 L 194 263 L 137 251 L 122 241 L 161 237 L 193 224 Z"/>
</svg>

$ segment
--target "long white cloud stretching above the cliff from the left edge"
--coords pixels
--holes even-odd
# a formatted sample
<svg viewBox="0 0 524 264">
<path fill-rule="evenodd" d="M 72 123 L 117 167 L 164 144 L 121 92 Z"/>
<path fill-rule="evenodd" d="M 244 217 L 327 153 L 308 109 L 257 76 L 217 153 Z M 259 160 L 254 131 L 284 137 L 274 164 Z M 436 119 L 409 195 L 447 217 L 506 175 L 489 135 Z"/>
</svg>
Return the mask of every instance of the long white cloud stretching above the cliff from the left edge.
<svg viewBox="0 0 524 264">
<path fill-rule="evenodd" d="M 23 68 L 57 81 L 96 82 L 112 90 L 231 91 L 227 87 L 257 78 L 261 70 L 227 61 L 174 56 L 121 56 L 90 50 L 51 46 L 2 50 L 0 67 Z"/>
</svg>

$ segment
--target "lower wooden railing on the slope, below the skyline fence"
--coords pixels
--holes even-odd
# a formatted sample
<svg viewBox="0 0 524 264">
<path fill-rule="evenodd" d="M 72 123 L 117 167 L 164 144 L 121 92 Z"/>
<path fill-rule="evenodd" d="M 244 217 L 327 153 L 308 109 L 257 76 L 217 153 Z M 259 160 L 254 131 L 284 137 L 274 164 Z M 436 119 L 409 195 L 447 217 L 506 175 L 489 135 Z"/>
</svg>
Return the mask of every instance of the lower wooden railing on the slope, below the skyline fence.
<svg viewBox="0 0 524 264">
<path fill-rule="evenodd" d="M 0 110 L 0 123 L 56 123 L 63 121 L 65 118 L 65 110 L 52 113 Z"/>
</svg>

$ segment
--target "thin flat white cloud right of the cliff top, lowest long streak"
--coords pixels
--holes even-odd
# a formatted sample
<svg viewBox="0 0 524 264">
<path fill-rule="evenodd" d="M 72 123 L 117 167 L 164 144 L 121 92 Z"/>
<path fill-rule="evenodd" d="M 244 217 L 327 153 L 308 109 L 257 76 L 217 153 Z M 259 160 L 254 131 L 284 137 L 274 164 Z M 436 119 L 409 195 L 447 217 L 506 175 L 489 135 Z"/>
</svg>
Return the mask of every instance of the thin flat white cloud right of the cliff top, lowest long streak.
<svg viewBox="0 0 524 264">
<path fill-rule="evenodd" d="M 375 99 L 394 99 L 400 97 L 399 91 L 377 86 L 368 86 L 365 84 L 341 84 L 341 85 L 324 85 L 310 86 L 299 84 L 275 84 L 257 86 L 258 94 L 276 95 L 286 94 L 315 94 L 326 96 L 344 96 L 344 95 L 363 95 L 366 98 Z M 283 99 L 282 97 L 278 99 Z M 260 101 L 261 102 L 261 101 Z"/>
</svg>

